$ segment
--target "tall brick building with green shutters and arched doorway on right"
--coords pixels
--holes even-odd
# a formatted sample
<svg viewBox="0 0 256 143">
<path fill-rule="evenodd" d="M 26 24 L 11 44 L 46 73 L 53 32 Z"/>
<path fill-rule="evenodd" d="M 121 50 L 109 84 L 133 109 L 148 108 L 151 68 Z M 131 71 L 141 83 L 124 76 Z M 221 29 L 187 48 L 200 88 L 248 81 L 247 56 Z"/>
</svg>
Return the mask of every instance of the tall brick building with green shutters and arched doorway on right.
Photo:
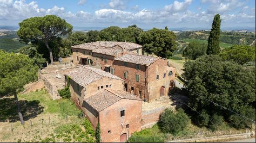
<svg viewBox="0 0 256 143">
<path fill-rule="evenodd" d="M 115 58 L 111 70 L 125 80 L 126 91 L 148 102 L 167 96 L 174 86 L 175 68 L 161 57 L 122 55 Z"/>
</svg>

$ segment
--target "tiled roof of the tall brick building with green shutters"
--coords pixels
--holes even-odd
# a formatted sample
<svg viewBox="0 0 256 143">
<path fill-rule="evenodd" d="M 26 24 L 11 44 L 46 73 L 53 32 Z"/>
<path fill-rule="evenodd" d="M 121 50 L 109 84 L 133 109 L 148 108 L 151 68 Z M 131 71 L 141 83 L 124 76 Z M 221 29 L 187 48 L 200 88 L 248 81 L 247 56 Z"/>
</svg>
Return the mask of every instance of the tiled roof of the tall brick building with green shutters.
<svg viewBox="0 0 256 143">
<path fill-rule="evenodd" d="M 118 58 L 115 58 L 115 60 L 117 61 L 131 62 L 131 63 L 146 65 L 146 66 L 151 65 L 158 59 L 159 57 L 131 55 L 131 54 L 126 54 L 126 55 L 119 56 Z"/>
</svg>

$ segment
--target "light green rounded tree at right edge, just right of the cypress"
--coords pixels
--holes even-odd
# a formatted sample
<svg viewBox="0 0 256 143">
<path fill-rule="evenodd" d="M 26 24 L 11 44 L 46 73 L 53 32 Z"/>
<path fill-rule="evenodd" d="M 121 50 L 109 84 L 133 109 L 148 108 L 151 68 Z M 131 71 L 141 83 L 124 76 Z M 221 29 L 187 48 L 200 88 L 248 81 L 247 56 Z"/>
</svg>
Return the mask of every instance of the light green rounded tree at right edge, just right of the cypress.
<svg viewBox="0 0 256 143">
<path fill-rule="evenodd" d="M 255 47 L 248 45 L 234 45 L 222 50 L 220 56 L 225 60 L 233 60 L 243 65 L 245 62 L 255 60 Z"/>
</svg>

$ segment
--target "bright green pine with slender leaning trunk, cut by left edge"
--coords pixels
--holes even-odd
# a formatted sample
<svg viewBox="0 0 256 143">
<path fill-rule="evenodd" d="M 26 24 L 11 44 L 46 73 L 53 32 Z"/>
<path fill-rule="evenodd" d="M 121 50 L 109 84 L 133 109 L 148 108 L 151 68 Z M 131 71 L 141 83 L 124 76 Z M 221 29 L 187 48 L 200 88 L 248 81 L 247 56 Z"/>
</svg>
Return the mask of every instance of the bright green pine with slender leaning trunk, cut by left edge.
<svg viewBox="0 0 256 143">
<path fill-rule="evenodd" d="M 14 95 L 21 124 L 24 124 L 24 119 L 17 93 L 25 84 L 37 80 L 38 68 L 33 63 L 34 61 L 26 55 L 0 50 L 0 97 Z"/>
</svg>

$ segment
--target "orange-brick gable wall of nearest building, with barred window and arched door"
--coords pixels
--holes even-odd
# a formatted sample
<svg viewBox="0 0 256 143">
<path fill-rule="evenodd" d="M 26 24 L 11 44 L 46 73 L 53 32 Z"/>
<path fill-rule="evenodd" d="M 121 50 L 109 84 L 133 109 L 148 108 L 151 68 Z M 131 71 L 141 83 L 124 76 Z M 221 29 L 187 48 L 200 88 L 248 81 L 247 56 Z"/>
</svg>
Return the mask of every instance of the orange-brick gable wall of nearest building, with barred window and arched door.
<svg viewBox="0 0 256 143">
<path fill-rule="evenodd" d="M 122 110 L 125 110 L 125 116 L 120 117 Z M 129 124 L 129 128 L 126 128 L 126 124 Z M 100 125 L 102 142 L 120 142 L 123 133 L 130 137 L 135 131 L 141 130 L 141 101 L 121 99 L 109 106 L 100 112 Z"/>
</svg>

